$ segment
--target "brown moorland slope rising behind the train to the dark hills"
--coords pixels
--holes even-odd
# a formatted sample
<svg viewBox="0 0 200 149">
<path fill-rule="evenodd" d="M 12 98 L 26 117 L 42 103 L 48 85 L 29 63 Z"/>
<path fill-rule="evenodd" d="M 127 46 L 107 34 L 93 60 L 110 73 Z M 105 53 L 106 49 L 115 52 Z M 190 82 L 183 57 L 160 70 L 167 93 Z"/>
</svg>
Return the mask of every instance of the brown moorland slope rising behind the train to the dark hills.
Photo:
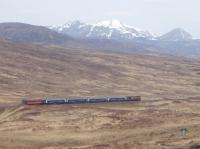
<svg viewBox="0 0 200 149">
<path fill-rule="evenodd" d="M 199 95 L 199 62 L 0 41 L 0 102 L 22 99 Z"/>
</svg>

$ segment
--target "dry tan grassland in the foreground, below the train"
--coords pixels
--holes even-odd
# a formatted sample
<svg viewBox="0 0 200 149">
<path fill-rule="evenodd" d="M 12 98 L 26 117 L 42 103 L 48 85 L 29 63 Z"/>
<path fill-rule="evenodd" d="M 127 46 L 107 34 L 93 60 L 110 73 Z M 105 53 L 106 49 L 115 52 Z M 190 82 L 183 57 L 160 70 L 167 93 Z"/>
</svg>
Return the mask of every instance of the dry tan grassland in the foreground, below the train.
<svg viewBox="0 0 200 149">
<path fill-rule="evenodd" d="M 172 100 L 12 107 L 0 115 L 0 148 L 189 147 L 200 141 L 199 108 Z"/>
</svg>

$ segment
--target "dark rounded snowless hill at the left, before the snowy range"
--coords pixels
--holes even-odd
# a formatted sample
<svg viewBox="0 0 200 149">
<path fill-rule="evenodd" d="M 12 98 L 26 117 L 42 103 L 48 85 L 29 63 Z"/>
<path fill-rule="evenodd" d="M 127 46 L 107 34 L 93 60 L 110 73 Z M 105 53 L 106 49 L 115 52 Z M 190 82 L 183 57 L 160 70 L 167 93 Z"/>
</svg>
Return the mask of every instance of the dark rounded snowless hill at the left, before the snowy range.
<svg viewBox="0 0 200 149">
<path fill-rule="evenodd" d="M 73 38 L 43 26 L 23 23 L 0 23 L 0 38 L 19 43 L 63 44 Z"/>
</svg>

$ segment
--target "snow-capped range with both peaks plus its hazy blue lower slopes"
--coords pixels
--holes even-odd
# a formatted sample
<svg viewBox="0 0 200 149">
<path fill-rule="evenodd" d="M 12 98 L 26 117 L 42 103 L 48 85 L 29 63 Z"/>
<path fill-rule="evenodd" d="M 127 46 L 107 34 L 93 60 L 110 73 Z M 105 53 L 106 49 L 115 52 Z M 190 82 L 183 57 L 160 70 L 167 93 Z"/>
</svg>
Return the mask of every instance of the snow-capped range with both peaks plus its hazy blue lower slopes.
<svg viewBox="0 0 200 149">
<path fill-rule="evenodd" d="M 52 26 L 50 29 L 72 36 L 74 39 L 84 39 L 80 41 L 86 42 L 86 47 L 92 49 L 123 52 L 153 51 L 200 57 L 200 40 L 193 39 L 188 32 L 180 28 L 161 36 L 154 36 L 148 31 L 125 25 L 118 20 L 107 20 L 96 24 L 71 21 L 61 26 Z"/>
</svg>

